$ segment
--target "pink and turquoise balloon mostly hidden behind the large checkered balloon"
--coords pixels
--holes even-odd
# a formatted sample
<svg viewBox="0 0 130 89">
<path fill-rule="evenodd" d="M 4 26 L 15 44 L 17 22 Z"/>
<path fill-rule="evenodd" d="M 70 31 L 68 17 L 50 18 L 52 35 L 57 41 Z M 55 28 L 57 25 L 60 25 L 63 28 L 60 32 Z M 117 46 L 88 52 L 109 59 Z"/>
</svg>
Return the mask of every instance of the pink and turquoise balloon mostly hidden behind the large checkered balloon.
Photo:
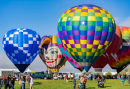
<svg viewBox="0 0 130 89">
<path fill-rule="evenodd" d="M 79 66 L 78 63 L 72 58 L 72 56 L 68 53 L 68 51 L 63 47 L 63 43 L 61 42 L 59 38 L 59 33 L 57 34 L 57 43 L 60 48 L 61 53 L 64 55 L 64 57 L 69 61 L 69 63 L 74 67 L 77 68 L 80 71 L 83 71 L 83 66 Z"/>
</svg>

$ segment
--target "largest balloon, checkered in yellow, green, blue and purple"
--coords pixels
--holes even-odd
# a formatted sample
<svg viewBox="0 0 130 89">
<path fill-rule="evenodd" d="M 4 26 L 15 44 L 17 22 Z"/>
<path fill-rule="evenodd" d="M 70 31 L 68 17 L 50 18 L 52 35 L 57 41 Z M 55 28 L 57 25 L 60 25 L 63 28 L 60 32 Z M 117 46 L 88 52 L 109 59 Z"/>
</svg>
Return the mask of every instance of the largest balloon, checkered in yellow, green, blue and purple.
<svg viewBox="0 0 130 89">
<path fill-rule="evenodd" d="M 111 14 L 95 5 L 78 5 L 65 11 L 58 22 L 63 46 L 88 71 L 114 38 L 116 25 Z"/>
</svg>

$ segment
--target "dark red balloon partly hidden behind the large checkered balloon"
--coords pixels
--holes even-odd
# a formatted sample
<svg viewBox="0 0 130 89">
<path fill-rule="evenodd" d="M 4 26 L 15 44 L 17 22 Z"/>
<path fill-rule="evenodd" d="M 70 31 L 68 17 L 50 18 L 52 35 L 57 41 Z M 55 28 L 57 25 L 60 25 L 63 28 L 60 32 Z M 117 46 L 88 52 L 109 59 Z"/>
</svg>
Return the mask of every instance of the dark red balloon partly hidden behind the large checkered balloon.
<svg viewBox="0 0 130 89">
<path fill-rule="evenodd" d="M 122 34 L 119 27 L 116 25 L 116 33 L 111 45 L 103 53 L 103 55 L 92 65 L 96 72 L 102 72 L 102 68 L 104 68 L 109 62 L 112 62 L 112 60 L 117 59 L 116 53 L 118 52 L 121 43 Z"/>
</svg>

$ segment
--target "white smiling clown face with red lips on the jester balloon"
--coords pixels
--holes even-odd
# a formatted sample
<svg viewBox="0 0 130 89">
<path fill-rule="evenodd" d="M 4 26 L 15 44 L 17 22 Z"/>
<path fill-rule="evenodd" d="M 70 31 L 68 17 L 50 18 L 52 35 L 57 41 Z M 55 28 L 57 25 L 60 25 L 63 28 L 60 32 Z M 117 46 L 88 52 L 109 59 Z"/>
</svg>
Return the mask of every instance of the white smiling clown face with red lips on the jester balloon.
<svg viewBox="0 0 130 89">
<path fill-rule="evenodd" d="M 62 54 L 58 46 L 42 48 L 43 61 L 48 67 L 58 66 L 62 59 Z"/>
</svg>

